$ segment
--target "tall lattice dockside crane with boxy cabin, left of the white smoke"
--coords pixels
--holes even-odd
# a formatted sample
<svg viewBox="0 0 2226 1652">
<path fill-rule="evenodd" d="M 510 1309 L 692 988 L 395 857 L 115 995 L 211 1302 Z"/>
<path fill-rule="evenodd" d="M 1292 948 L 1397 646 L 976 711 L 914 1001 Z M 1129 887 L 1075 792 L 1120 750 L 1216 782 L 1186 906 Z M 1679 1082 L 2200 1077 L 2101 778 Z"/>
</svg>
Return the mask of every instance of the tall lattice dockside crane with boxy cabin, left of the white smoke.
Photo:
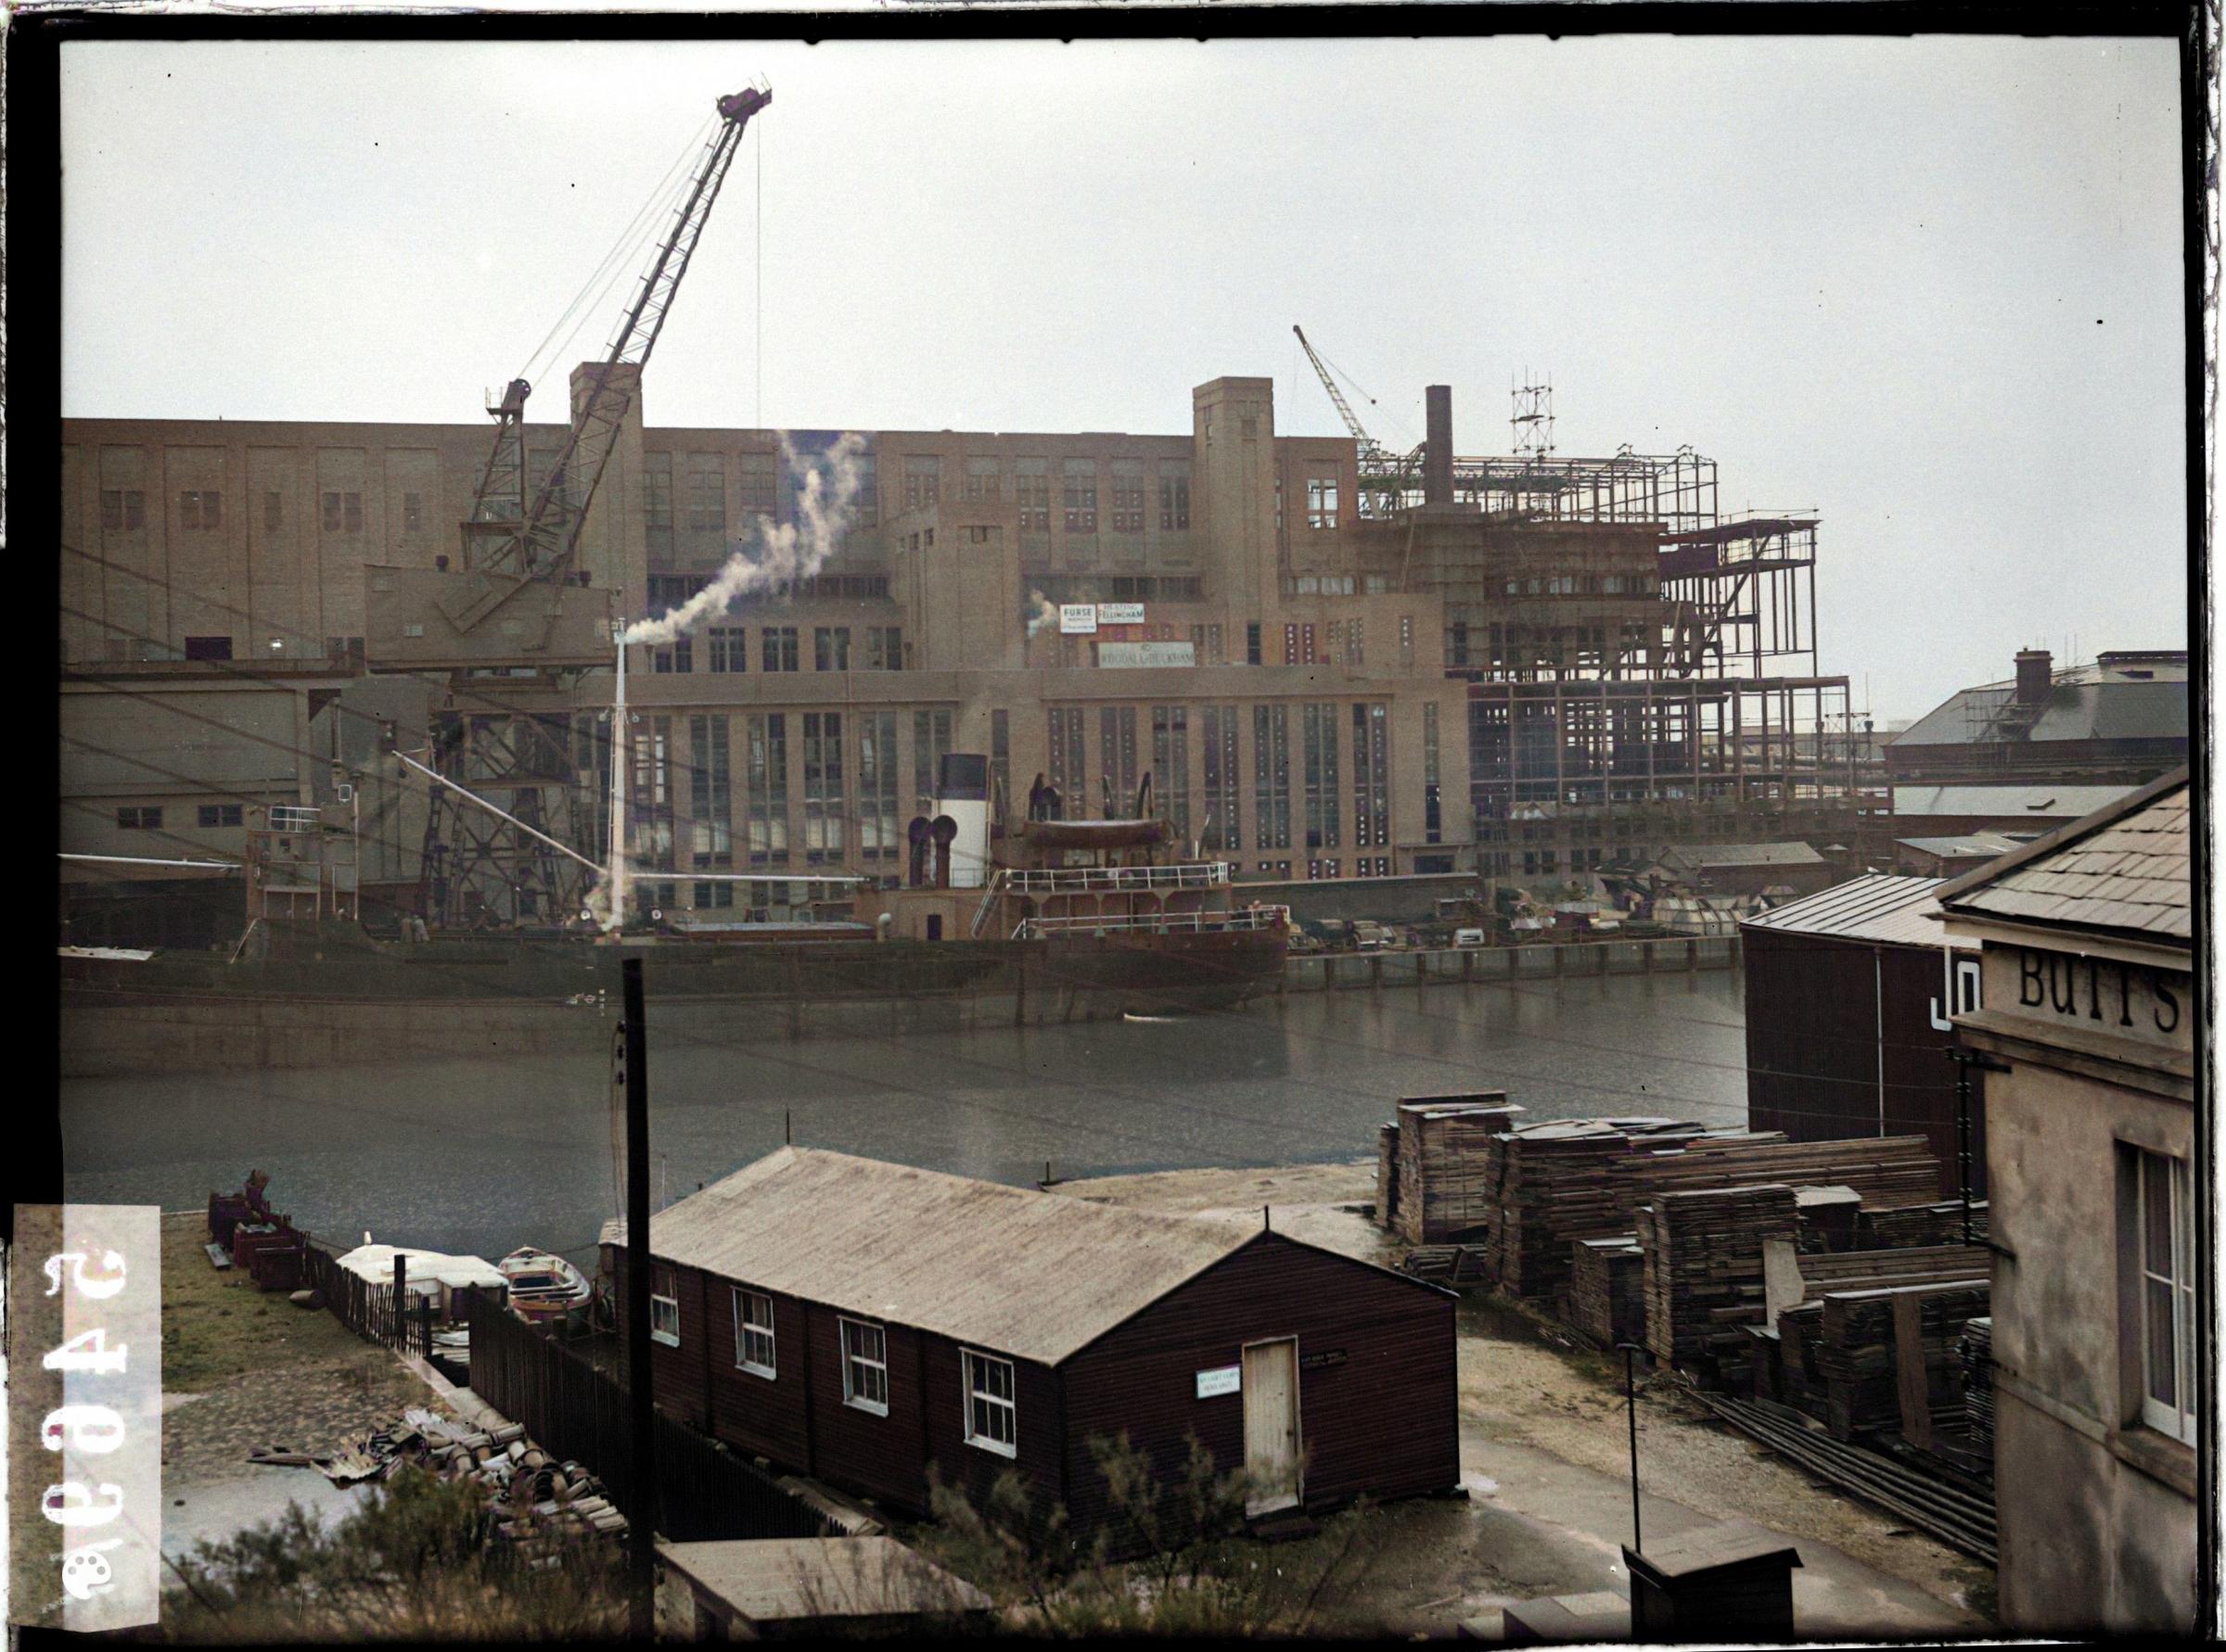
<svg viewBox="0 0 2226 1652">
<path fill-rule="evenodd" d="M 719 125 L 610 347 L 572 378 L 572 421 L 539 488 L 525 461 L 532 385 L 512 378 L 487 407 L 494 445 L 463 521 L 463 566 L 365 568 L 367 666 L 450 672 L 430 726 L 427 766 L 445 784 L 432 786 L 418 871 L 427 924 L 559 924 L 583 906 L 610 824 L 594 822 L 601 788 L 581 784 L 597 741 L 574 741 L 570 688 L 612 661 L 614 590 L 577 566 L 579 537 L 743 127 L 768 102 L 764 87 L 717 100 Z"/>
</svg>

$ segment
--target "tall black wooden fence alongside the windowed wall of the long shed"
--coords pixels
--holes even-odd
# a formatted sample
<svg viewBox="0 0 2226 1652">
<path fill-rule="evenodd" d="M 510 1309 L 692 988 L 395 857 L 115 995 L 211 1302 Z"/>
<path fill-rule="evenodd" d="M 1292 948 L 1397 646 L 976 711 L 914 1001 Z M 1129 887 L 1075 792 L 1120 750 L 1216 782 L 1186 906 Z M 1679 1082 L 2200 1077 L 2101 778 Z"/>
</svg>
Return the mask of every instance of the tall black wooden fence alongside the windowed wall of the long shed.
<svg viewBox="0 0 2226 1652">
<path fill-rule="evenodd" d="M 654 1483 L 643 1487 L 652 1505 L 643 1507 L 634 1496 L 626 1387 L 492 1296 L 461 1291 L 459 1300 L 472 1327 L 472 1392 L 523 1423 L 545 1452 L 585 1463 L 637 1525 L 674 1543 L 839 1536 L 833 1521 L 755 1463 L 663 1412 L 654 1420 Z"/>
</svg>

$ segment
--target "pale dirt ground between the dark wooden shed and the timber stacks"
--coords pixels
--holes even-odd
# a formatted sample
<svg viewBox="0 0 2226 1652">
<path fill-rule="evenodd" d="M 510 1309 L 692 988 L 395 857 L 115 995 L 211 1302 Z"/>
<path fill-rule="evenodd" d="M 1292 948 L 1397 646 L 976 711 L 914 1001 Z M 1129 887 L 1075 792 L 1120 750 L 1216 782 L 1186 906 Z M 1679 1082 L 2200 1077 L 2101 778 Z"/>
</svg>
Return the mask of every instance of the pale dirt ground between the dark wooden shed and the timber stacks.
<svg viewBox="0 0 2226 1652">
<path fill-rule="evenodd" d="M 1391 1262 L 1398 1247 L 1356 1209 L 1376 1198 L 1376 1162 L 1264 1171 L 1162 1171 L 1057 1184 L 1080 1198 L 1229 1222 L 1269 1220 L 1327 1249 Z M 1496 1298 L 1460 1307 L 1462 1467 L 1467 1516 L 1447 1505 L 1385 1510 L 1409 1558 L 1385 1570 L 1385 1605 L 1407 1632 L 1442 1632 L 1480 1605 L 1534 1594 L 1621 1587 L 1629 1538 L 1629 1434 L 1618 1360 L 1589 1351 L 1543 1316 Z M 1992 1605 L 1994 1576 L 1888 1514 L 1845 1498 L 1765 1452 L 1656 1376 L 1638 1396 L 1641 1483 L 1676 1530 L 1747 1518 L 1805 1541 L 1801 1590 L 1819 1630 L 1970 1632 Z M 1458 1505 L 1454 1505 L 1458 1510 Z M 1865 1623 L 1863 1619 L 1870 1619 Z"/>
</svg>

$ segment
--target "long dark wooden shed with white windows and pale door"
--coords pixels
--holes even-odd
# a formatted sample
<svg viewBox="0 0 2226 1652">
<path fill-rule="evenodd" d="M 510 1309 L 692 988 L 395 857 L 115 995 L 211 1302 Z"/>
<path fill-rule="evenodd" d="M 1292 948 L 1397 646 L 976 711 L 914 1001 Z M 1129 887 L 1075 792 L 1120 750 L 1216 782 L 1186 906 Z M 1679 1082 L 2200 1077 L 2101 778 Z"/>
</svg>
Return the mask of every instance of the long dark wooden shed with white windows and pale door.
<svg viewBox="0 0 2226 1652">
<path fill-rule="evenodd" d="M 1255 1516 L 1460 1481 L 1454 1294 L 1264 1227 L 784 1147 L 650 1256 L 657 1403 L 908 1514 L 930 1465 L 977 1507 L 1017 1469 L 1086 1541 L 1120 1432 L 1164 1476 L 1195 1434 Z"/>
</svg>

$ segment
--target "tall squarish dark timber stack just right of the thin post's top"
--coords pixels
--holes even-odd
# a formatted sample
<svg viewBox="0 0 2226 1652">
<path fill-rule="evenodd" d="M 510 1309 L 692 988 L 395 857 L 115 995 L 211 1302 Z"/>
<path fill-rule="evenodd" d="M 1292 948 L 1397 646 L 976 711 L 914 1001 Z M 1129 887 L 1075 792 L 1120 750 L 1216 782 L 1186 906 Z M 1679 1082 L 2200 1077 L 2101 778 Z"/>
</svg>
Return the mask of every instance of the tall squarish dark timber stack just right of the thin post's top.
<svg viewBox="0 0 2226 1652">
<path fill-rule="evenodd" d="M 1658 1193 L 1638 1209 L 1647 1349 L 1665 1365 L 1712 1371 L 1736 1358 L 1741 1327 L 1763 1322 L 1763 1242 L 1794 1242 L 1794 1189 L 1783 1182 Z"/>
</svg>

